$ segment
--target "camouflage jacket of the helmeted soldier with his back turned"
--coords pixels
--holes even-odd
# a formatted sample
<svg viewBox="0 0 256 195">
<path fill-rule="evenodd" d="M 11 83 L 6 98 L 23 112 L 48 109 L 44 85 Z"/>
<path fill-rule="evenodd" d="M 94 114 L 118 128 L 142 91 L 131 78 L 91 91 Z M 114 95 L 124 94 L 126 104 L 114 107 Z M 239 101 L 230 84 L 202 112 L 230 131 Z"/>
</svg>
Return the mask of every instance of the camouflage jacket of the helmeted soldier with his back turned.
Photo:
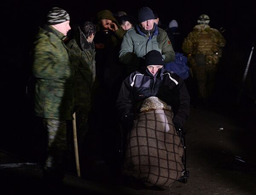
<svg viewBox="0 0 256 195">
<path fill-rule="evenodd" d="M 217 64 L 225 44 L 224 37 L 217 29 L 210 28 L 207 24 L 199 24 L 184 39 L 182 49 L 189 56 L 190 62 L 195 54 L 204 54 L 207 64 Z"/>
</svg>

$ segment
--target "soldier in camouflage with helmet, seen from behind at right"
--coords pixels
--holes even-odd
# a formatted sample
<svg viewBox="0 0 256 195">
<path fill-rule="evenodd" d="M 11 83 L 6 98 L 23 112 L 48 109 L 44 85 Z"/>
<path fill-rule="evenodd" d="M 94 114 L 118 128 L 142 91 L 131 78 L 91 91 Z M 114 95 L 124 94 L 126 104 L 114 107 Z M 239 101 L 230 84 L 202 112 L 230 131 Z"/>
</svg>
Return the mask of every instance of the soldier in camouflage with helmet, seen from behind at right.
<svg viewBox="0 0 256 195">
<path fill-rule="evenodd" d="M 184 53 L 188 55 L 192 73 L 197 79 L 200 99 L 212 95 L 221 49 L 226 43 L 217 29 L 210 28 L 209 21 L 207 15 L 201 15 L 198 18 L 198 25 L 193 28 L 182 45 Z"/>
</svg>

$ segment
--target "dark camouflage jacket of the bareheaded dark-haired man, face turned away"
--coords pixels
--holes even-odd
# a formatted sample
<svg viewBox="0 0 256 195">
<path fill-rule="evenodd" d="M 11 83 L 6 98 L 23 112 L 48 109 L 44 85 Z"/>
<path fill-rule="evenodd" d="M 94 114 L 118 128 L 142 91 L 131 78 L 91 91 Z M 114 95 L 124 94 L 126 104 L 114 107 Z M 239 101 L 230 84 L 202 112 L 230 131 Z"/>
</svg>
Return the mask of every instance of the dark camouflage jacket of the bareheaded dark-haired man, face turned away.
<svg viewBox="0 0 256 195">
<path fill-rule="evenodd" d="M 71 63 L 75 68 L 75 105 L 85 107 L 89 112 L 91 94 L 96 88 L 95 47 L 89 44 L 78 28 L 74 39 L 67 43 Z"/>
</svg>

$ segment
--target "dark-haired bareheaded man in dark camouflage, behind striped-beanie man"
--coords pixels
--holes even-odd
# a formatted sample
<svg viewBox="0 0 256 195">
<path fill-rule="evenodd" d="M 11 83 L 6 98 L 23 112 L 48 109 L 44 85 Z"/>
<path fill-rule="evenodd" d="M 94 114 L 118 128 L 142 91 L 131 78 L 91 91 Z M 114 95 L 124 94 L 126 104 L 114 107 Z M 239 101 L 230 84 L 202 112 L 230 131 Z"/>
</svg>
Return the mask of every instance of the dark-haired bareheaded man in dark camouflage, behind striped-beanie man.
<svg viewBox="0 0 256 195">
<path fill-rule="evenodd" d="M 82 142 L 88 132 L 88 116 L 91 110 L 92 94 L 97 88 L 95 70 L 95 47 L 93 38 L 96 26 L 85 22 L 79 27 L 72 40 L 67 43 L 71 63 L 75 73 L 75 110 L 78 144 L 81 151 Z M 79 151 L 79 152 L 80 152 Z"/>
</svg>

